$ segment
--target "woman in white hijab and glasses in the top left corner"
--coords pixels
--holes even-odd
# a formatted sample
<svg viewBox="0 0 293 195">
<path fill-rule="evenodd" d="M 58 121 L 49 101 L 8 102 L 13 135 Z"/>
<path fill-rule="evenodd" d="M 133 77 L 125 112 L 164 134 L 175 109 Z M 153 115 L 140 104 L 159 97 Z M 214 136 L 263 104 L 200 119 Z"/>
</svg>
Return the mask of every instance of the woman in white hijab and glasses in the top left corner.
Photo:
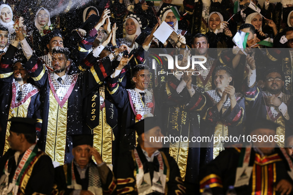
<svg viewBox="0 0 293 195">
<path fill-rule="evenodd" d="M 8 41 L 9 43 L 12 43 L 12 40 L 15 39 L 15 30 L 13 28 L 14 22 L 12 20 L 13 18 L 12 9 L 9 5 L 1 4 L 0 12 L 1 12 L 0 24 L 8 28 L 8 31 L 9 31 Z"/>
</svg>

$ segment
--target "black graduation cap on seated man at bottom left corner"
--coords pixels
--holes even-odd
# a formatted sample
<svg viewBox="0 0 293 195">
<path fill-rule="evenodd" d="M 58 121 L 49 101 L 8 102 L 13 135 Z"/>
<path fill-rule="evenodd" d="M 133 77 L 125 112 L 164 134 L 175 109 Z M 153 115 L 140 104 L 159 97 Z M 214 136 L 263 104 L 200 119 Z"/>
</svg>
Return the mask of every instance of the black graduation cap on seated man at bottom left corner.
<svg viewBox="0 0 293 195">
<path fill-rule="evenodd" d="M 11 122 L 10 131 L 22 134 L 36 133 L 37 119 L 12 117 L 8 121 Z"/>
</svg>

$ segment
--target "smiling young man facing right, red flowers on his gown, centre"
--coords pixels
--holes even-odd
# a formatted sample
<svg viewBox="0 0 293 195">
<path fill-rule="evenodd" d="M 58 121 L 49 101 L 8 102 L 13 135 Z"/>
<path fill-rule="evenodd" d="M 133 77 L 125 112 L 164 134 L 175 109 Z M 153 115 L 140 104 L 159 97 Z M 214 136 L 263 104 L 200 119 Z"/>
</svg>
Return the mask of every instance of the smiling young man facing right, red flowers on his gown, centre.
<svg viewBox="0 0 293 195">
<path fill-rule="evenodd" d="M 123 65 L 125 66 L 126 64 Z M 120 70 L 124 71 L 123 67 L 118 66 Z M 120 74 L 123 73 L 122 71 Z M 148 67 L 144 64 L 136 65 L 132 69 L 132 75 L 132 81 L 135 84 L 134 89 L 126 90 L 120 86 L 121 84 L 118 82 L 120 77 L 118 75 L 110 79 L 107 87 L 117 107 L 122 109 L 121 121 L 118 121 L 118 123 L 121 124 L 121 138 L 124 138 L 121 142 L 124 144 L 121 146 L 125 149 L 133 149 L 136 143 L 135 132 L 126 128 L 144 118 L 154 116 L 155 111 L 153 90 L 148 89 L 150 84 Z"/>
</svg>

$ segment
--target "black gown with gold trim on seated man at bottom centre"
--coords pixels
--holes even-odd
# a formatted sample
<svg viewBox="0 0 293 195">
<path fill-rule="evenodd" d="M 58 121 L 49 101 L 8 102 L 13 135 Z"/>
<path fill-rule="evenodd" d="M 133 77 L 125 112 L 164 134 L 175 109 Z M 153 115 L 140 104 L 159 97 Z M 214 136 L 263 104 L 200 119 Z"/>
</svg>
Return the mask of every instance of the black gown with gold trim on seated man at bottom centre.
<svg viewBox="0 0 293 195">
<path fill-rule="evenodd" d="M 117 195 L 127 194 L 127 195 L 138 195 L 137 182 L 139 176 L 141 176 L 138 169 L 143 168 L 144 177 L 150 175 L 150 181 L 154 181 L 154 172 L 159 172 L 160 164 L 162 162 L 159 160 L 159 156 L 162 156 L 162 161 L 164 162 L 162 169 L 164 169 L 164 175 L 166 179 L 163 180 L 163 177 L 159 177 L 159 184 L 163 184 L 166 181 L 165 193 L 168 195 L 182 195 L 185 194 L 185 187 L 183 186 L 182 179 L 180 177 L 178 166 L 169 153 L 160 151 L 159 155 L 154 157 L 153 162 L 148 162 L 141 147 L 138 145 L 136 150 L 131 150 L 124 152 L 119 156 L 118 161 L 118 172 L 116 175 L 117 178 Z M 139 159 L 139 162 L 137 161 Z M 137 163 L 139 165 L 137 165 Z M 162 164 L 161 164 L 162 165 Z M 138 176 L 139 175 L 139 176 Z M 161 175 L 162 176 L 162 175 Z M 165 177 L 164 177 L 165 178 Z M 141 179 L 141 178 L 140 178 Z M 142 179 L 141 186 L 148 185 L 148 181 Z M 156 185 L 152 182 L 151 186 Z M 158 192 L 153 192 L 153 195 L 162 195 Z"/>
</svg>

